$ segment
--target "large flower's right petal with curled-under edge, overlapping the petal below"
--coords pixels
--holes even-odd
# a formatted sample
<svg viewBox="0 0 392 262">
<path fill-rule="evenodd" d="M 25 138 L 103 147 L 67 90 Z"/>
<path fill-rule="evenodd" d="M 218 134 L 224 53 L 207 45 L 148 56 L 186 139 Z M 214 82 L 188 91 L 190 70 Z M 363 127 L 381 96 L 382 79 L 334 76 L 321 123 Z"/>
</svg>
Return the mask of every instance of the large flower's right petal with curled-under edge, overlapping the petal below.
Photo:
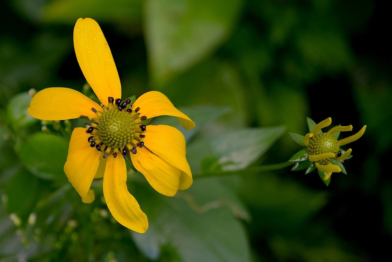
<svg viewBox="0 0 392 262">
<path fill-rule="evenodd" d="M 182 170 L 178 189 L 185 190 L 192 184 L 191 168 L 185 157 L 185 137 L 177 129 L 167 125 L 148 125 L 145 147 L 167 163 Z"/>
</svg>

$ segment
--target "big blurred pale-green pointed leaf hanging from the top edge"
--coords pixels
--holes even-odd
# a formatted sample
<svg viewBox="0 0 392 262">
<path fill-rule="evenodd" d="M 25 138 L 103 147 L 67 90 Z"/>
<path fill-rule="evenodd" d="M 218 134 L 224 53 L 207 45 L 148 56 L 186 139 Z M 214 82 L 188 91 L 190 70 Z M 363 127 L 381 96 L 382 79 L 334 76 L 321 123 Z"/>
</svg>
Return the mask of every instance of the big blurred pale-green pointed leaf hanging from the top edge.
<svg viewBox="0 0 392 262">
<path fill-rule="evenodd" d="M 167 82 L 216 49 L 241 10 L 240 0 L 148 0 L 145 36 L 154 83 Z"/>
</svg>

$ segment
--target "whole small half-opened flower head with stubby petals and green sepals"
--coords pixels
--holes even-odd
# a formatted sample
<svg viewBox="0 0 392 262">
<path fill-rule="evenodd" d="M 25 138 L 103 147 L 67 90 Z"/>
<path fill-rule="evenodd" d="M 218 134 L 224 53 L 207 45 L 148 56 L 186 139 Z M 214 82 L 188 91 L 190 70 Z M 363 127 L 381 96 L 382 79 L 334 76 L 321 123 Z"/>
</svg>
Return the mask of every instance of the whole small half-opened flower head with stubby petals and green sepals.
<svg viewBox="0 0 392 262">
<path fill-rule="evenodd" d="M 320 177 L 324 181 L 328 181 L 325 182 L 327 185 L 332 173 L 339 173 L 342 171 L 343 173 L 346 173 L 342 162 L 351 157 L 350 154 L 352 149 L 349 148 L 345 151 L 341 149 L 340 146 L 356 141 L 365 133 L 366 130 L 365 125 L 355 135 L 338 140 L 340 132 L 352 131 L 352 125 L 335 126 L 328 132 L 323 133 L 321 128 L 325 128 L 331 123 L 331 117 L 328 117 L 317 125 L 309 118 L 308 125 L 310 132 L 308 134 L 305 136 L 290 134 L 300 145 L 306 147 L 290 158 L 290 161 L 296 162 L 292 170 L 307 168 L 306 173 L 310 173 L 317 168 Z"/>
</svg>

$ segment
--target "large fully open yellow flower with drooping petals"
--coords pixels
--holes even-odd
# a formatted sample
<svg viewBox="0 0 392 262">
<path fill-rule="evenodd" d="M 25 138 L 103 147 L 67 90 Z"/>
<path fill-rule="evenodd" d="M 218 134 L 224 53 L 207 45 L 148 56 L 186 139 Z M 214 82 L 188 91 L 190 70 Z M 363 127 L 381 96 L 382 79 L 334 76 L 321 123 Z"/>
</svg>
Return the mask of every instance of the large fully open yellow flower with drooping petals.
<svg viewBox="0 0 392 262">
<path fill-rule="evenodd" d="M 74 27 L 74 48 L 82 72 L 101 102 L 98 105 L 82 93 L 64 87 L 38 92 L 28 112 L 42 120 L 65 120 L 81 116 L 91 119 L 89 128 L 75 128 L 69 142 L 64 172 L 82 201 L 90 203 L 94 178 L 103 177 L 103 195 L 114 219 L 139 233 L 148 228 L 147 216 L 127 190 L 125 157 L 151 186 L 173 196 L 192 184 L 185 158 L 185 139 L 179 130 L 166 125 L 148 125 L 143 120 L 155 116 L 176 116 L 181 125 L 195 123 L 176 109 L 158 91 L 140 96 L 131 105 L 121 101 L 121 84 L 109 45 L 98 23 L 79 18 Z"/>
</svg>

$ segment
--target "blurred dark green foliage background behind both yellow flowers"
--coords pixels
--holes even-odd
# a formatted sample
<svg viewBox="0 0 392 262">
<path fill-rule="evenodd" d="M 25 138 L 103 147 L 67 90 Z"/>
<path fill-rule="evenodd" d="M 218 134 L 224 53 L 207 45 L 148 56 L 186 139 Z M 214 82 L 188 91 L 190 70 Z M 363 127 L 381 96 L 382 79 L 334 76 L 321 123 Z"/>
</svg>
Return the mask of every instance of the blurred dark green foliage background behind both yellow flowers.
<svg viewBox="0 0 392 262">
<path fill-rule="evenodd" d="M 388 16 L 371 0 L 2 0 L 0 261 L 389 257 Z M 149 218 L 145 234 L 111 217 L 102 181 L 93 182 L 92 204 L 67 182 L 70 132 L 83 122 L 27 115 L 30 89 L 91 94 L 73 49 L 79 17 L 100 24 L 124 96 L 160 90 L 197 124 L 181 130 L 189 190 L 165 197 L 129 172 L 129 191 Z M 353 133 L 367 125 L 349 145 L 348 175 L 332 174 L 327 187 L 317 172 L 257 171 L 301 149 L 288 132 L 305 135 L 307 116 L 352 124 Z"/>
</svg>

